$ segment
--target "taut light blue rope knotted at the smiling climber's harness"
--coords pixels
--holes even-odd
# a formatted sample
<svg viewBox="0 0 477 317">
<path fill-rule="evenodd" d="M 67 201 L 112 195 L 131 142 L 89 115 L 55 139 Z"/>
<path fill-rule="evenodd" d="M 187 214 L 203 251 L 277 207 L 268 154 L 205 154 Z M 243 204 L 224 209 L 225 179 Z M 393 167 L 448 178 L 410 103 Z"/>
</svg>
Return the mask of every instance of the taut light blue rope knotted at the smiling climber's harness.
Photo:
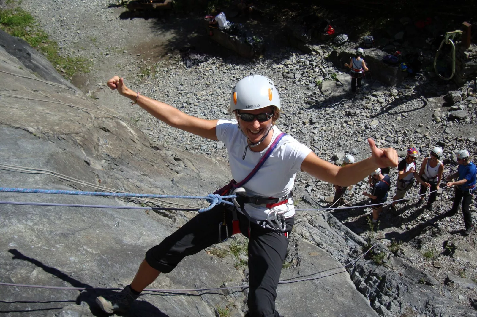
<svg viewBox="0 0 477 317">
<path fill-rule="evenodd" d="M 36 188 L 10 188 L 0 187 L 0 192 L 30 193 L 30 194 L 57 194 L 57 195 L 82 195 L 82 196 L 113 196 L 113 197 L 146 197 L 146 198 L 183 198 L 183 199 L 205 199 L 210 204 L 207 208 L 199 209 L 198 212 L 208 211 L 218 204 L 225 203 L 234 205 L 232 202 L 224 200 L 226 198 L 236 198 L 235 195 L 220 196 L 209 194 L 207 196 L 181 196 L 181 195 L 157 195 L 157 194 L 134 194 L 134 193 L 109 193 L 99 191 L 78 191 L 78 190 L 57 190 L 57 189 L 36 189 Z"/>
</svg>

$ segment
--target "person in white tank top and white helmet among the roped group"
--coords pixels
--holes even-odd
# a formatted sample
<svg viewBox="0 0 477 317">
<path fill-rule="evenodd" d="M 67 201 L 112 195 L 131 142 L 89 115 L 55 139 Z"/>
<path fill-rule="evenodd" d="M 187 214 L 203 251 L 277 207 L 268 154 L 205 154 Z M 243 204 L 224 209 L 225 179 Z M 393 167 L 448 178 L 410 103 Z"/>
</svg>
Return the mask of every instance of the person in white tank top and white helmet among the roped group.
<svg viewBox="0 0 477 317">
<path fill-rule="evenodd" d="M 419 169 L 419 176 L 424 181 L 424 184 L 421 184 L 421 189 L 419 190 L 419 197 L 416 206 L 419 206 L 424 201 L 424 194 L 427 192 L 427 188 L 430 188 L 431 193 L 429 194 L 429 200 L 425 208 L 432 211 L 434 208 L 432 204 L 436 201 L 437 189 L 439 189 L 439 184 L 442 180 L 442 173 L 444 172 L 444 164 L 439 160 L 440 155 L 442 154 L 442 148 L 435 147 L 431 150 L 431 156 L 425 158 L 422 162 L 421 168 Z"/>
</svg>

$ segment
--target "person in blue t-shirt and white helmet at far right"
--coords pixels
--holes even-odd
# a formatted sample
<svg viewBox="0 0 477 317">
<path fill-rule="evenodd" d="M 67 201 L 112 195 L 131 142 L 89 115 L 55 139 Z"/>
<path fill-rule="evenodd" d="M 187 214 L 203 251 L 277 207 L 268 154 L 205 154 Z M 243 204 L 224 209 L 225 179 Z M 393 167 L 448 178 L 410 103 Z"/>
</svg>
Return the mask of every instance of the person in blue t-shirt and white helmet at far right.
<svg viewBox="0 0 477 317">
<path fill-rule="evenodd" d="M 455 186 L 454 204 L 452 208 L 445 213 L 446 217 L 456 214 L 462 200 L 462 213 L 464 215 L 464 224 L 466 230 L 464 235 L 468 236 L 474 230 L 472 223 L 472 216 L 470 214 L 469 205 L 474 197 L 474 190 L 476 189 L 476 166 L 470 161 L 470 154 L 467 150 L 460 150 L 457 152 L 457 172 L 447 176 L 448 187 Z M 456 182 L 451 182 L 453 178 L 457 178 Z"/>
</svg>

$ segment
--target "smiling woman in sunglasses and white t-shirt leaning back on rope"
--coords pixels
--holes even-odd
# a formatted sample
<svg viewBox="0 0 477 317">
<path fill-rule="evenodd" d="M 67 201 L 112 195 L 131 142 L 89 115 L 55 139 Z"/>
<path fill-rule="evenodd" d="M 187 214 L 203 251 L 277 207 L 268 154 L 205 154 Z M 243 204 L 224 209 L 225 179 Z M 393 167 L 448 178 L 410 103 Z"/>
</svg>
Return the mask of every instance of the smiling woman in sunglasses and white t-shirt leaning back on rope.
<svg viewBox="0 0 477 317">
<path fill-rule="evenodd" d="M 222 141 L 228 150 L 233 180 L 216 191 L 233 194 L 233 206 L 221 203 L 199 213 L 157 246 L 150 248 L 132 281 L 121 292 L 96 298 L 107 313 L 127 310 L 159 274 L 171 272 L 183 258 L 234 234 L 249 238 L 249 317 L 280 316 L 276 289 L 287 254 L 295 209 L 291 190 L 303 170 L 323 181 L 349 186 L 380 166 L 397 166 L 394 149 L 378 149 L 368 139 L 371 157 L 339 167 L 318 158 L 311 149 L 275 126 L 280 97 L 271 79 L 247 76 L 233 87 L 231 114 L 237 120 L 208 120 L 187 115 L 163 102 L 128 89 L 118 76 L 107 85 L 166 124 L 198 136 Z"/>
</svg>

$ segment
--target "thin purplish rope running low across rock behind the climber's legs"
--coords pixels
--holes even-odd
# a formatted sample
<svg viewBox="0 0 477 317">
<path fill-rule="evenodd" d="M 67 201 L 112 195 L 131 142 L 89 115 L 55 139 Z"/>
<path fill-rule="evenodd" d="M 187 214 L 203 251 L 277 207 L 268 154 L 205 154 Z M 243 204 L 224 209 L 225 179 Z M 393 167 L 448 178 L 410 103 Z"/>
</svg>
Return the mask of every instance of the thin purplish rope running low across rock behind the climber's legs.
<svg viewBox="0 0 477 317">
<path fill-rule="evenodd" d="M 323 278 L 323 277 L 327 277 L 329 275 L 332 275 L 332 274 L 336 274 L 334 273 L 334 271 L 336 270 L 342 270 L 343 268 L 345 267 L 348 267 L 350 265 L 354 265 L 358 262 L 358 260 L 360 260 L 361 258 L 363 258 L 369 251 L 371 251 L 372 248 L 374 248 L 378 243 L 374 243 L 371 248 L 369 248 L 368 250 L 366 250 L 366 252 L 363 252 L 362 255 L 360 255 L 358 258 L 355 258 L 353 259 L 352 261 L 350 261 L 350 263 L 348 264 L 345 264 L 341 267 L 334 267 L 334 268 L 330 268 L 330 269 L 327 269 L 327 270 L 323 270 L 323 271 L 320 271 L 320 272 L 316 272 L 314 274 L 311 274 L 311 275 L 316 275 L 316 274 L 320 274 L 320 273 L 325 273 L 325 274 L 320 274 L 319 276 L 315 276 L 315 277 L 307 277 L 307 278 L 299 278 L 299 277 L 295 277 L 294 279 L 291 279 L 291 280 L 281 280 L 278 282 L 278 284 L 289 284 L 289 283 L 297 283 L 297 282 L 304 282 L 304 281 L 311 281 L 311 280 L 315 280 L 315 279 L 320 279 L 320 278 Z M 333 272 L 333 273 L 332 273 Z M 345 271 L 340 271 L 340 272 L 337 272 L 337 273 L 343 273 Z M 102 289 L 102 290 L 120 290 L 122 288 L 103 288 L 103 287 L 62 287 L 62 286 L 44 286 L 44 285 L 28 285 L 28 284 L 15 284 L 15 283 L 4 283 L 4 282 L 0 282 L 0 285 L 4 285 L 4 286 L 12 286 L 12 287 L 34 287 L 34 288 L 49 288 L 49 289 L 62 289 L 62 290 L 80 290 L 80 291 L 83 291 L 83 290 L 87 290 L 87 289 Z M 237 286 L 229 286 L 229 287 L 218 287 L 218 288 L 197 288 L 197 289 L 156 289 L 156 288 L 146 288 L 144 291 L 145 292 L 158 292 L 158 293 L 177 293 L 177 292 L 206 292 L 206 291 L 216 291 L 216 290 L 224 290 L 224 289 L 233 289 L 233 288 L 248 288 L 250 285 L 249 284 L 246 284 L 246 285 L 237 285 Z"/>
</svg>

